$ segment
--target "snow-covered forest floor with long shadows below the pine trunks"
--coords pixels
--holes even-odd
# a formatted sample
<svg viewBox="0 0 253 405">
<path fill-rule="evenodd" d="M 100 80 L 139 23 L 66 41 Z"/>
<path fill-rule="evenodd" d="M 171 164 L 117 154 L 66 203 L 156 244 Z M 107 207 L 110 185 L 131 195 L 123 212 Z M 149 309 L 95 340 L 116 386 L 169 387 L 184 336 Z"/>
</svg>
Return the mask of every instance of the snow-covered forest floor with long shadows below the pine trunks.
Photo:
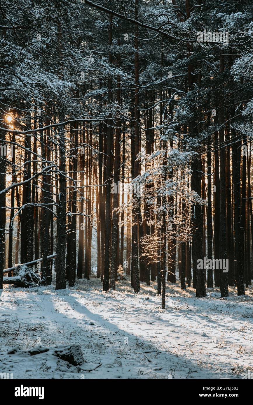
<svg viewBox="0 0 253 405">
<path fill-rule="evenodd" d="M 75 288 L 0 290 L 0 372 L 13 378 L 253 378 L 253 288 L 221 298 L 208 289 L 168 284 L 161 309 L 157 284 L 134 294 L 129 281 L 103 292 L 98 279 Z M 79 343 L 86 362 L 70 366 L 53 356 L 57 345 Z M 28 356 L 39 345 L 49 351 Z"/>
</svg>

